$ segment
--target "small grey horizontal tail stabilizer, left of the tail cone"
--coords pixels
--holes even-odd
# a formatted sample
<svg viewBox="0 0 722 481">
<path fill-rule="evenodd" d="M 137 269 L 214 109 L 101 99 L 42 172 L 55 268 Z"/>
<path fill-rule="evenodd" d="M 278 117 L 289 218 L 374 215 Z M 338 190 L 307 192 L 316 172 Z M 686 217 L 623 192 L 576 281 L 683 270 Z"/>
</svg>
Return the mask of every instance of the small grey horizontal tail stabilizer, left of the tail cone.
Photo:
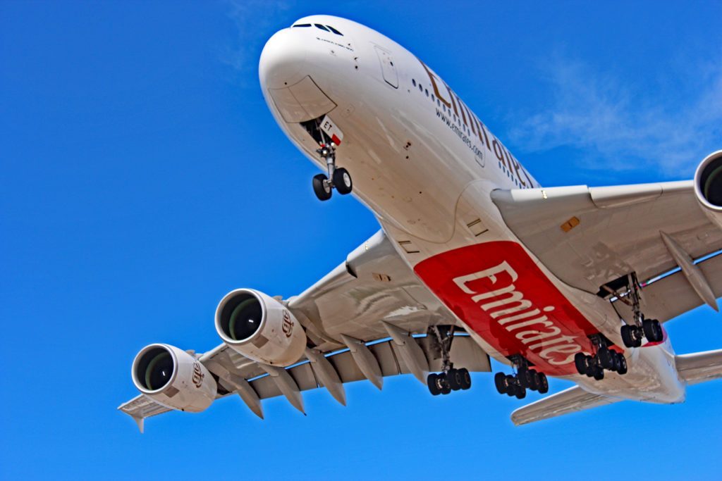
<svg viewBox="0 0 722 481">
<path fill-rule="evenodd" d="M 544 399 L 532 402 L 529 405 L 520 407 L 511 413 L 511 420 L 515 425 L 534 423 L 543 419 L 554 418 L 570 412 L 591 409 L 609 405 L 619 400 L 612 397 L 592 394 L 584 389 L 575 386 L 570 387 L 557 394 L 544 397 Z"/>
</svg>

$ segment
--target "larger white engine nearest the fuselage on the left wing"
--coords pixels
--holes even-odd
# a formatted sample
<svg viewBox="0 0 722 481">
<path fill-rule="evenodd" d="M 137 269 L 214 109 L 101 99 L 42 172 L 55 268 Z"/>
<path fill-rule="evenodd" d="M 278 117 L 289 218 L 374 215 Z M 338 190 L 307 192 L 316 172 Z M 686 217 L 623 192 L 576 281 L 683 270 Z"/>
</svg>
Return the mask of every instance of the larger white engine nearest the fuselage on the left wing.
<svg viewBox="0 0 722 481">
<path fill-rule="evenodd" d="M 216 309 L 216 330 L 232 350 L 273 366 L 290 366 L 306 347 L 306 334 L 293 314 L 253 289 L 226 294 Z"/>
</svg>

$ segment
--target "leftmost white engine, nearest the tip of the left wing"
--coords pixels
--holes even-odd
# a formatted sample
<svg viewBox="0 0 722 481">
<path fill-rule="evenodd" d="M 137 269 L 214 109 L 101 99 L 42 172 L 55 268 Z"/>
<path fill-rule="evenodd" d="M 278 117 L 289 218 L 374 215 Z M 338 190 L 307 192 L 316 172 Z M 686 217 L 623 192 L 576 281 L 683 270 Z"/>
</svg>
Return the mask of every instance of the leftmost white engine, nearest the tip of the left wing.
<svg viewBox="0 0 722 481">
<path fill-rule="evenodd" d="M 216 381 L 206 366 L 186 351 L 151 344 L 133 361 L 133 384 L 158 404 L 201 412 L 216 398 Z"/>
</svg>

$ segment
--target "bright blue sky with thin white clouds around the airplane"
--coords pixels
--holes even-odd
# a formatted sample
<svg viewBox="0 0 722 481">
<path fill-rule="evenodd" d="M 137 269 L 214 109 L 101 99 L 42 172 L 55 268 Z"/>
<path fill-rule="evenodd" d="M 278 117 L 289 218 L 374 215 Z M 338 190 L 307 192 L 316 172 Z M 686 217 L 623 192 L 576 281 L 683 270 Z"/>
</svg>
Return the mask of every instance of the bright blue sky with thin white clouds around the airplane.
<svg viewBox="0 0 722 481">
<path fill-rule="evenodd" d="M 0 1 L 0 477 L 718 477 L 722 381 L 521 428 L 490 374 L 308 392 L 307 416 L 267 400 L 263 421 L 229 397 L 144 435 L 116 411 L 144 345 L 213 348 L 227 291 L 298 294 L 378 229 L 316 200 L 258 87 L 266 39 L 313 13 L 409 48 L 542 185 L 687 179 L 722 147 L 719 2 Z M 666 327 L 689 353 L 721 323 Z"/>
</svg>

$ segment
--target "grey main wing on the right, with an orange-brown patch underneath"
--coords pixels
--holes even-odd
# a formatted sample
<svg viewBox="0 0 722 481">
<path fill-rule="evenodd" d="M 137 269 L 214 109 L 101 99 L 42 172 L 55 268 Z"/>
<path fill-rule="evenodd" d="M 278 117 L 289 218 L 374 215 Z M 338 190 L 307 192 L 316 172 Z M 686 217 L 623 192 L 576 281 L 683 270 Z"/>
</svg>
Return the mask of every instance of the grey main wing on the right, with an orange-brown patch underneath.
<svg viewBox="0 0 722 481">
<path fill-rule="evenodd" d="M 664 321 L 703 303 L 717 309 L 722 256 L 708 257 L 722 249 L 722 229 L 698 205 L 692 181 L 495 190 L 492 200 L 521 242 L 571 286 L 606 296 L 604 286 L 627 274 L 664 275 L 643 282 L 647 317 Z"/>
</svg>

